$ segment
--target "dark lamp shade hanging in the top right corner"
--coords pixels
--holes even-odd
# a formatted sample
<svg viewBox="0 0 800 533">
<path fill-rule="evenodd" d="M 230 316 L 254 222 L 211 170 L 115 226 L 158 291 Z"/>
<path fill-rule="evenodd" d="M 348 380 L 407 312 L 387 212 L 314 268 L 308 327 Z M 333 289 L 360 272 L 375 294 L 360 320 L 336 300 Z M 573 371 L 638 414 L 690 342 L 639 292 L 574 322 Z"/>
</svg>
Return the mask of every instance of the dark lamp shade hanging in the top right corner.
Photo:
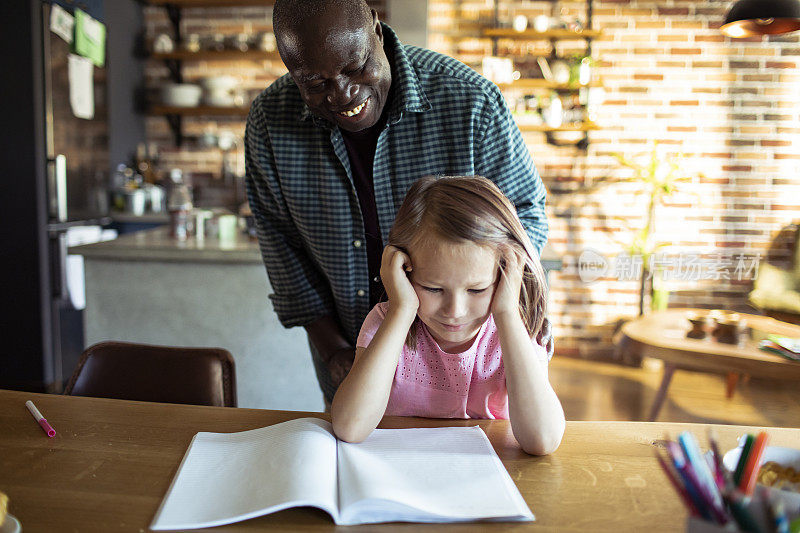
<svg viewBox="0 0 800 533">
<path fill-rule="evenodd" d="M 800 30 L 800 0 L 738 0 L 720 30 L 729 37 Z"/>
</svg>

